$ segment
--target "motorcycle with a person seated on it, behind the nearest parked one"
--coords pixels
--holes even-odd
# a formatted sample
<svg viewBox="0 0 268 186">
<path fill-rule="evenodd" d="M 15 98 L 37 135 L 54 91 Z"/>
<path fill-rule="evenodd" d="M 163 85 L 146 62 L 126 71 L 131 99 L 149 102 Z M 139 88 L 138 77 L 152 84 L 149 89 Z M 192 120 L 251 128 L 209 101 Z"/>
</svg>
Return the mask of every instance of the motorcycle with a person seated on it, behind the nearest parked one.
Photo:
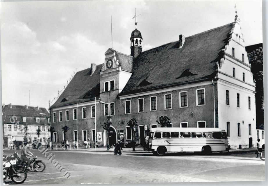
<svg viewBox="0 0 268 186">
<path fill-rule="evenodd" d="M 27 167 L 27 162 L 25 162 L 22 158 L 19 158 L 19 154 L 17 153 L 17 151 L 13 155 L 18 160 L 17 163 L 23 166 L 26 171 L 43 172 L 46 169 L 46 165 L 44 164 L 44 162 L 42 162 L 42 160 L 37 160 L 37 156 L 34 157 L 33 154 L 33 158 L 31 158 L 31 163 L 29 167 Z"/>
</svg>

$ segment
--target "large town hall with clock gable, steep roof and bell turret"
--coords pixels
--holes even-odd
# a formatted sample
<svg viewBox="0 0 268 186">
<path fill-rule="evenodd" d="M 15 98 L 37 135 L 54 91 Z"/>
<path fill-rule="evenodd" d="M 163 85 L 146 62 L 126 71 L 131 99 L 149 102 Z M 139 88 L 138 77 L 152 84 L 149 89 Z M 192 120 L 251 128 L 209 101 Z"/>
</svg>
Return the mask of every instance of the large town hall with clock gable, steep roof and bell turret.
<svg viewBox="0 0 268 186">
<path fill-rule="evenodd" d="M 255 83 L 237 15 L 230 24 L 178 35 L 178 41 L 147 51 L 142 40 L 136 28 L 131 55 L 108 49 L 103 64 L 75 74 L 50 107 L 55 143 L 64 139 L 61 127 L 68 126 L 69 142 L 94 143 L 96 132 L 105 146 L 102 127 L 108 117 L 109 143 L 119 134 L 127 143 L 132 140 L 127 122 L 135 117 L 135 141 L 143 144 L 144 129 L 160 127 L 156 120 L 167 116 L 169 127 L 226 130 L 231 148 L 256 145 Z"/>
</svg>

